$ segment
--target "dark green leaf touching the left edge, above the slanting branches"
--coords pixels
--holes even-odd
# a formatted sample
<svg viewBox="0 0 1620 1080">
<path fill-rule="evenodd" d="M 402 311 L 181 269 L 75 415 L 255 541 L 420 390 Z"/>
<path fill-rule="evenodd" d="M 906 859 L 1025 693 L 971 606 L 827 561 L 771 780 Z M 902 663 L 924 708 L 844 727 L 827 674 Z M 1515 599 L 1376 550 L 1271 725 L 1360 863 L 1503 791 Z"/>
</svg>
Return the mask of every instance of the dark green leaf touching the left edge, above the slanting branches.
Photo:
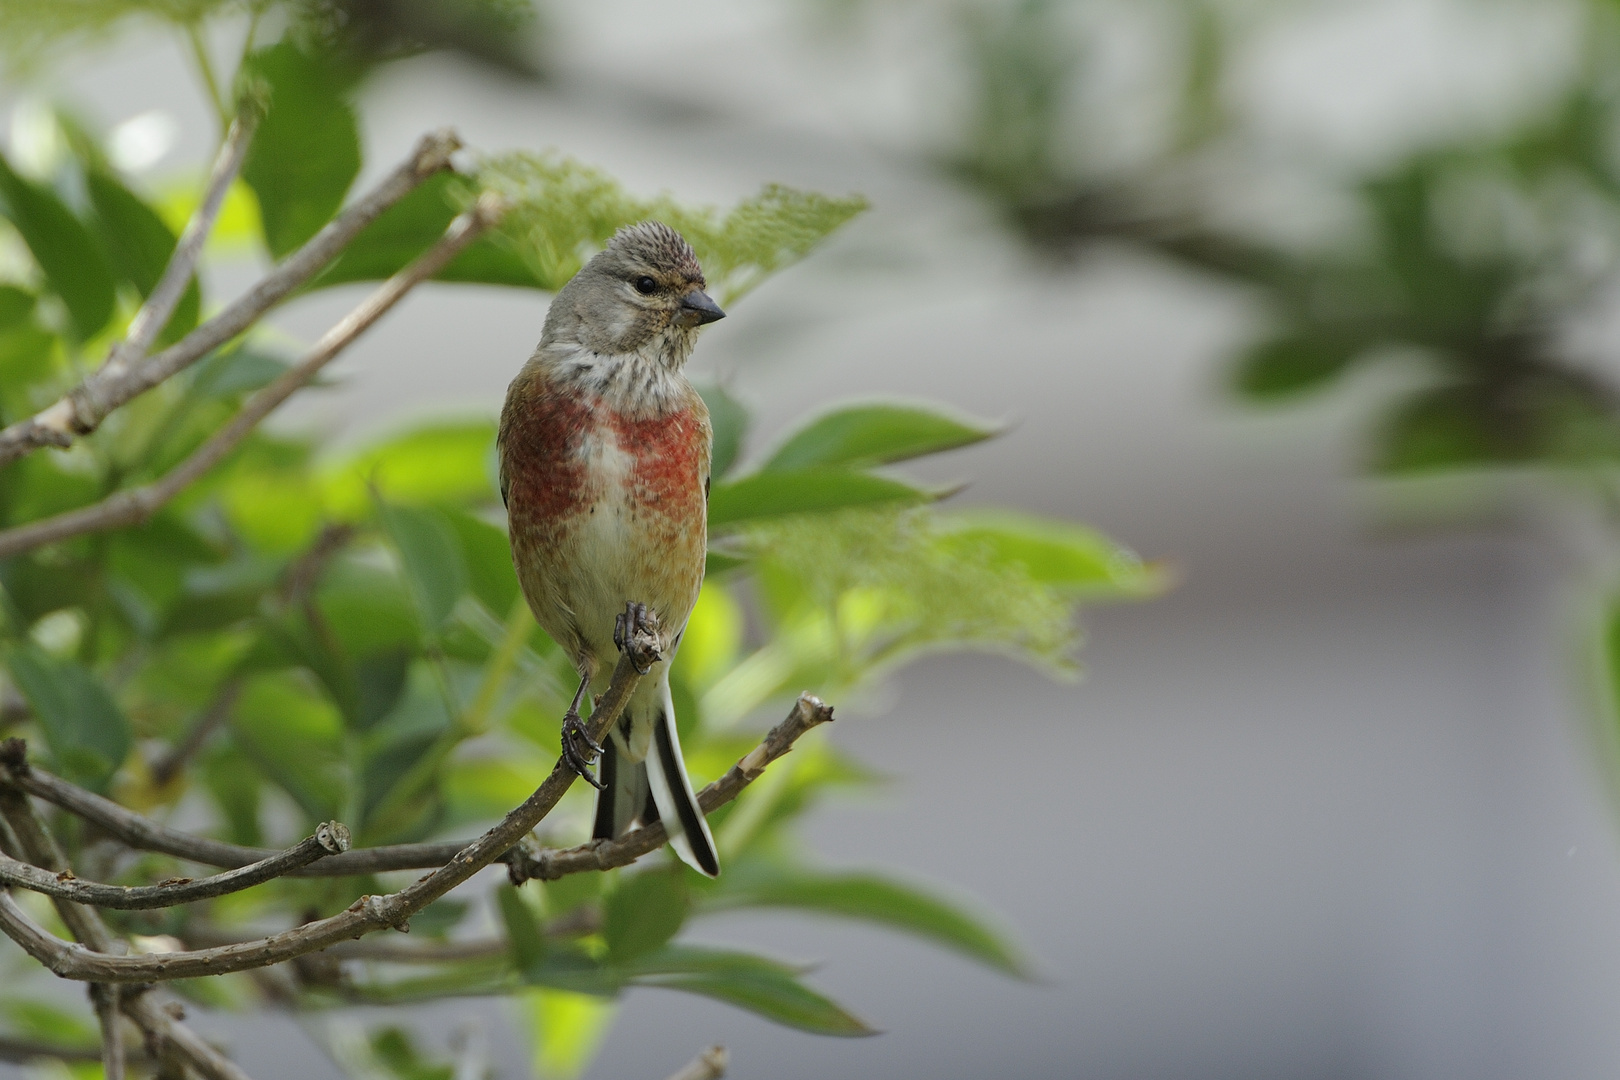
<svg viewBox="0 0 1620 1080">
<path fill-rule="evenodd" d="M 52 291 L 68 306 L 79 340 L 112 319 L 117 287 L 105 249 L 49 188 L 19 176 L 0 155 L 0 214 L 16 225 Z"/>
</svg>

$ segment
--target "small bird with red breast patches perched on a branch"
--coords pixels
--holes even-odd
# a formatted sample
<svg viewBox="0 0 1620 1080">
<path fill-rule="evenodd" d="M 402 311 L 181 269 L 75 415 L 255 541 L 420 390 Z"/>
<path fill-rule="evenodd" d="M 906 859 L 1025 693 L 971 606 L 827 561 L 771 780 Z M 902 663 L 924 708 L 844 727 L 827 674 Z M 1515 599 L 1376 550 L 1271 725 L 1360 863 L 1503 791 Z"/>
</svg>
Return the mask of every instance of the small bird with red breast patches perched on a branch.
<svg viewBox="0 0 1620 1080">
<path fill-rule="evenodd" d="M 698 330 L 726 316 L 706 288 L 669 225 L 617 230 L 552 298 L 507 389 L 496 447 L 518 583 L 578 670 L 562 758 L 598 789 L 593 836 L 663 821 L 676 855 L 714 878 L 669 693 L 708 551 L 714 434 L 685 376 Z M 654 633 L 659 659 L 596 745 L 580 704 L 608 688 L 637 630 Z"/>
</svg>

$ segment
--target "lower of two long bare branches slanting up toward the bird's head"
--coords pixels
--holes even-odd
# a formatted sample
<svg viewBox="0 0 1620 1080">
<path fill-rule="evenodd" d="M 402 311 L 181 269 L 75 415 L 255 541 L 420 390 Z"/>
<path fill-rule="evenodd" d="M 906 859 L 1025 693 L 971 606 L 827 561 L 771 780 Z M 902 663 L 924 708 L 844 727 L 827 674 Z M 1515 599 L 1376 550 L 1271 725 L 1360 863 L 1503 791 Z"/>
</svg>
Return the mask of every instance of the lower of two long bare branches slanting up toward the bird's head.
<svg viewBox="0 0 1620 1080">
<path fill-rule="evenodd" d="M 368 296 L 358 308 L 343 316 L 337 325 L 327 330 L 321 340 L 314 343 L 314 348 L 305 353 L 303 359 L 300 359 L 288 371 L 282 372 L 275 382 L 248 398 L 248 403 L 241 406 L 241 411 L 237 413 L 230 423 L 209 436 L 209 439 L 198 447 L 191 457 L 165 473 L 162 479 L 141 487 L 120 491 L 107 499 L 102 499 L 100 502 L 79 507 L 78 510 L 68 510 L 66 513 L 58 513 L 53 518 L 42 518 L 39 521 L 29 521 L 28 525 L 0 531 L 0 559 L 8 559 L 44 544 L 70 539 L 73 536 L 83 536 L 86 533 L 100 533 L 104 529 L 139 525 L 141 521 L 151 518 L 170 499 L 178 495 L 190 484 L 201 479 L 211 468 L 219 465 L 225 455 L 235 450 L 241 440 L 248 437 L 261 419 L 269 416 L 271 411 L 282 402 L 290 398 L 306 382 L 314 379 L 314 376 L 326 368 L 326 364 L 342 353 L 356 337 L 364 334 L 366 329 L 381 319 L 389 308 L 397 304 L 405 293 L 415 288 L 420 282 L 442 270 L 450 259 L 467 248 L 467 244 L 473 243 L 473 240 L 476 240 L 484 230 L 494 225 L 504 209 L 505 207 L 496 196 L 481 196 L 471 210 L 450 222 L 450 227 L 446 230 L 439 243 L 418 256 L 408 267 L 384 282 L 382 287 L 371 293 L 371 296 Z M 152 363 L 156 363 L 156 359 L 157 358 L 154 358 Z M 151 366 L 151 363 L 143 364 L 131 374 L 139 376 Z"/>
</svg>

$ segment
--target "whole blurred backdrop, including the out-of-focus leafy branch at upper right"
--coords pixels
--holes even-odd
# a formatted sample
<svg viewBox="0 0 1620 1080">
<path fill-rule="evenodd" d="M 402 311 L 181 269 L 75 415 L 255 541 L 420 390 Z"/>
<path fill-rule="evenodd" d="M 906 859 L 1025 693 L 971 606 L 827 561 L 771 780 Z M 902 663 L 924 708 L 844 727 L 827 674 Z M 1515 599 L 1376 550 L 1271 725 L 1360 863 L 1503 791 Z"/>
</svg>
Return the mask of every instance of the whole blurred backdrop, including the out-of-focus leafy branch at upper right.
<svg viewBox="0 0 1620 1080">
<path fill-rule="evenodd" d="M 548 0 L 531 32 L 520 63 L 368 81 L 368 172 L 454 125 L 685 201 L 865 194 L 693 368 L 757 432 L 870 395 L 1003 419 L 930 479 L 1178 580 L 1090 615 L 1077 683 L 925 659 L 841 706 L 834 738 L 893 782 L 818 811 L 815 847 L 951 882 L 1040 983 L 750 915 L 734 938 L 818 960 L 885 1033 L 633 991 L 588 1075 L 711 1041 L 782 1080 L 1614 1075 L 1620 8 Z M 13 154 L 40 100 L 136 175 L 212 152 L 190 58 L 139 23 L 0 89 Z M 274 324 L 311 340 L 356 290 Z M 488 416 L 543 319 L 533 291 L 426 287 L 279 423 Z M 418 1022 L 468 1017 L 523 1075 L 494 1002 Z M 199 1027 L 262 1080 L 342 1075 L 292 1018 Z"/>
</svg>

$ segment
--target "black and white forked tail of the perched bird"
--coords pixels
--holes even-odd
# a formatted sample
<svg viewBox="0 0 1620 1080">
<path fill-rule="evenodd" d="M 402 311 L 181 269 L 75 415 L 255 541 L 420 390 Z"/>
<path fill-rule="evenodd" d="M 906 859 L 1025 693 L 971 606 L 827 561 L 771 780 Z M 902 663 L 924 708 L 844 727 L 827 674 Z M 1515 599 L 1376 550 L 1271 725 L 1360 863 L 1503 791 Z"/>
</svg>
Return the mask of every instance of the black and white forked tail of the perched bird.
<svg viewBox="0 0 1620 1080">
<path fill-rule="evenodd" d="M 648 708 L 651 716 L 640 716 L 638 706 Z M 669 683 L 664 682 L 656 696 L 637 695 L 630 701 L 627 716 L 630 730 L 614 730 L 611 738 L 603 740 L 603 792 L 596 797 L 596 824 L 591 836 L 611 840 L 624 836 L 637 821 L 643 824 L 663 821 L 669 844 L 680 861 L 710 878 L 719 876 L 714 836 L 703 811 L 698 810 L 692 780 L 687 779 L 687 764 L 680 756 L 680 735 L 676 732 L 676 706 L 669 696 Z M 632 745 L 642 742 L 635 733 L 643 724 L 651 727 L 651 738 L 643 743 L 645 759 L 635 761 Z"/>
</svg>

